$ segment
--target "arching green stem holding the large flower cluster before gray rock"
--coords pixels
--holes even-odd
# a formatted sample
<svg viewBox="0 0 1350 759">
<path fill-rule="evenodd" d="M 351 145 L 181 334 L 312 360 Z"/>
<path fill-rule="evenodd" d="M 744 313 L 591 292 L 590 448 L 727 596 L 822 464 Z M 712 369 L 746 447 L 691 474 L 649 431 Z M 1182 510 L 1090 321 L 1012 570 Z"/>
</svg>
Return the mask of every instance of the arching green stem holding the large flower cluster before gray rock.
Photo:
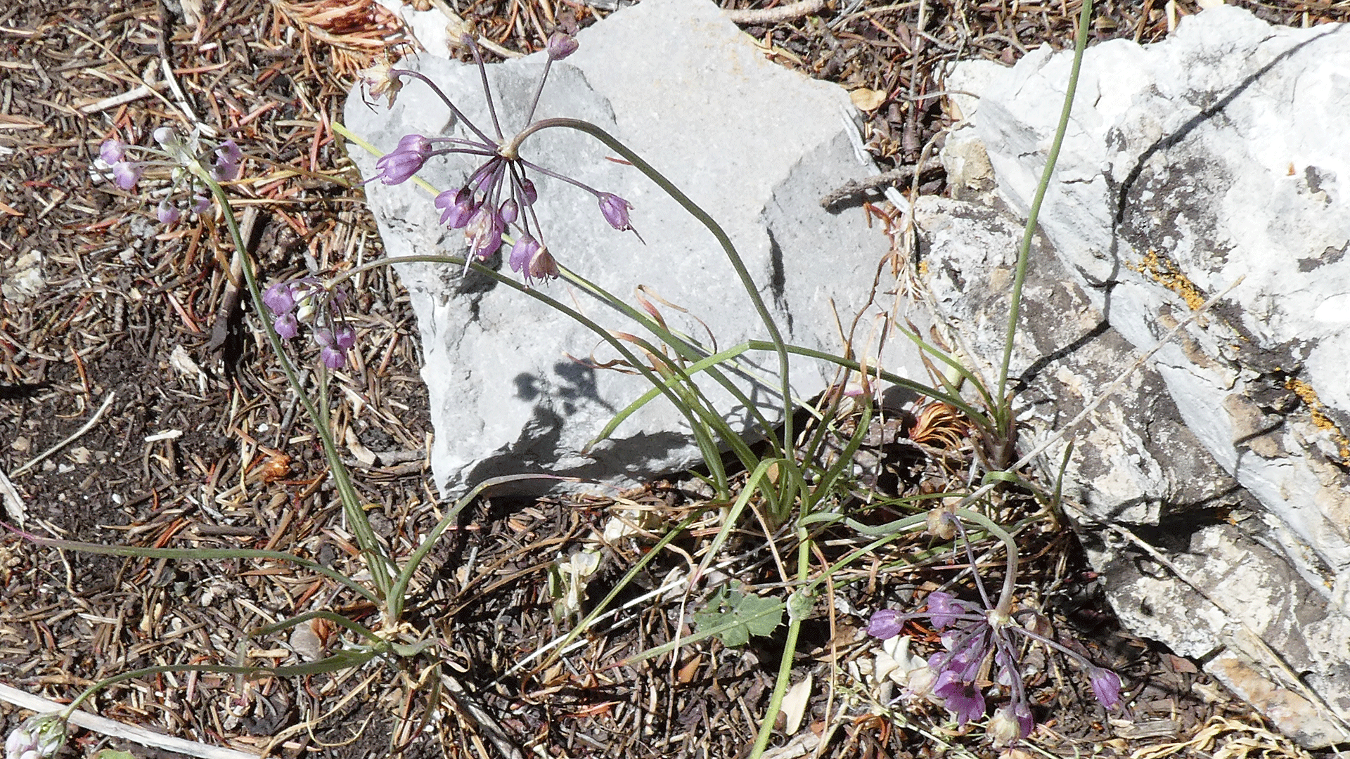
<svg viewBox="0 0 1350 759">
<path fill-rule="evenodd" d="M 590 122 L 582 122 L 579 119 L 541 119 L 533 124 L 525 127 L 518 135 L 516 135 L 510 143 L 502 150 L 516 150 L 520 143 L 525 140 L 529 135 L 547 128 L 570 128 L 580 132 L 586 132 L 595 139 L 601 140 L 610 150 L 618 153 L 629 163 L 632 163 L 639 172 L 647 176 L 647 178 L 656 182 L 666 194 L 671 196 L 675 203 L 680 204 L 690 216 L 695 217 L 707 227 L 707 231 L 717 238 L 718 244 L 726 253 L 728 261 L 730 261 L 732 267 L 736 270 L 736 276 L 741 280 L 741 285 L 745 288 L 745 293 L 749 296 L 751 303 L 755 305 L 755 311 L 759 313 L 760 321 L 764 323 L 764 328 L 768 330 L 770 339 L 774 343 L 774 348 L 778 352 L 779 375 L 782 380 L 780 392 L 783 394 L 783 455 L 787 458 L 788 466 L 796 469 L 796 458 L 792 455 L 792 389 L 788 377 L 788 359 L 787 347 L 783 342 L 783 335 L 778 330 L 778 324 L 774 321 L 774 316 L 768 312 L 768 307 L 764 305 L 764 298 L 759 294 L 759 288 L 755 285 L 755 280 L 751 277 L 748 269 L 745 269 L 745 262 L 741 261 L 741 255 L 736 253 L 736 246 L 732 244 L 732 239 L 726 235 L 726 231 L 714 220 L 706 211 L 698 207 L 693 200 L 688 199 L 679 188 L 676 188 L 670 180 L 667 180 L 660 172 L 652 167 L 651 163 L 643 161 L 640 155 L 628 149 L 624 143 L 616 139 L 613 135 L 605 130 L 591 124 Z"/>
</svg>

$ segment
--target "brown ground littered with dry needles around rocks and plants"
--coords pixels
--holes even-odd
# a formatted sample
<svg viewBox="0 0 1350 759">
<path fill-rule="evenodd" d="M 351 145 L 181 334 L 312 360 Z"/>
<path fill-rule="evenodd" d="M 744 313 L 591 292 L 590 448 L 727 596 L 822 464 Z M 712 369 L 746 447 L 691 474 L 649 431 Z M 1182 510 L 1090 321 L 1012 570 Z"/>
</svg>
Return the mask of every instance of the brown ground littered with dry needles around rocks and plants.
<svg viewBox="0 0 1350 759">
<path fill-rule="evenodd" d="M 1291 24 L 1342 20 L 1346 3 L 1241 3 Z M 185 8 L 186 5 L 186 8 Z M 381 255 L 355 173 L 331 122 L 355 74 L 373 55 L 409 45 L 400 24 L 369 0 L 240 0 L 201 8 L 193 0 L 39 1 L 0 8 L 0 473 L 23 498 L 27 529 L 72 540 L 157 547 L 250 547 L 294 551 L 356 573 L 351 533 L 327 483 L 317 440 L 274 362 L 247 296 L 227 294 L 232 251 L 212 219 L 163 227 L 155 200 L 122 192 L 90 170 L 99 145 L 142 145 L 184 107 L 239 140 L 250 157 L 232 185 L 239 209 L 255 211 L 254 254 L 267 280 L 336 273 Z M 772 4 L 737 4 L 756 11 Z M 608 11 L 548 0 L 450 5 L 502 49 L 539 49 L 555 20 L 603 23 Z M 941 66 L 956 55 L 1013 62 L 1038 45 L 1065 46 L 1075 3 L 888 4 L 860 0 L 742 19 L 776 61 L 846 88 L 886 93 L 868 112 L 868 146 L 894 181 L 944 192 L 925 162 L 946 126 Z M 1161 39 L 1177 4 L 1106 3 L 1095 39 Z M 185 15 L 186 14 L 186 15 Z M 921 34 L 922 32 L 922 34 Z M 165 84 L 163 66 L 173 69 Z M 108 100 L 148 84 L 154 95 Z M 937 139 L 934 139 L 937 138 Z M 917 181 L 913 167 L 925 167 Z M 906 169 L 910 167 L 910 169 Z M 157 196 L 158 197 L 158 196 Z M 354 461 L 371 520 L 406 555 L 441 513 L 424 451 L 431 436 L 418 378 L 416 325 L 387 269 L 362 277 L 351 304 L 360 343 L 340 371 L 333 428 L 375 452 Z M 313 365 L 315 357 L 300 357 Z M 313 381 L 313 377 L 309 378 Z M 39 454 L 81 431 L 54 454 Z M 949 451 L 969 455 L 957 435 Z M 941 479 L 944 467 L 914 451 L 875 447 L 906 488 Z M 351 447 L 348 448 L 351 450 Z M 907 458 L 906 458 L 907 456 Z M 898 486 L 899 486 L 898 485 Z M 1003 504 L 1008 519 L 1026 504 Z M 679 600 L 648 600 L 582 637 L 543 669 L 512 666 L 566 632 L 549 610 L 545 575 L 559 555 L 603 529 L 620 509 L 674 524 L 690 509 L 672 482 L 625 498 L 483 498 L 437 546 L 417 577 L 410 624 L 439 639 L 435 659 L 331 675 L 238 683 L 221 675 L 153 675 L 111 687 L 86 709 L 211 745 L 275 755 L 405 756 L 740 756 L 753 740 L 783 642 L 753 639 L 728 650 L 707 640 L 624 664 L 676 635 Z M 14 508 L 7 520 L 16 523 Z M 701 524 L 679 551 L 716 532 Z M 780 536 L 782 538 L 782 536 Z M 1031 556 L 1029 598 L 1089 655 L 1115 667 L 1130 694 L 1130 718 L 1108 716 L 1081 678 L 1056 658 L 1041 662 L 1033 693 L 1044 727 L 1034 748 L 1053 755 L 1214 756 L 1226 741 L 1245 752 L 1299 754 L 1192 662 L 1118 629 L 1062 524 L 1033 523 L 1019 536 Z M 782 552 L 791 550 L 786 542 Z M 841 536 L 833 548 L 849 546 Z M 649 543 L 645 543 L 649 546 Z M 836 612 L 818 606 L 803 628 L 794 682 L 818 687 L 803 727 L 779 733 L 778 756 L 987 756 L 979 729 L 953 731 L 945 712 L 892 710 L 867 678 L 875 643 L 861 635 L 872 609 L 930 590 L 954 567 L 905 569 L 917 539 L 840 575 Z M 644 551 L 616 543 L 593 581 L 613 583 Z M 765 539 L 745 525 L 728 555 L 740 579 L 775 581 Z M 687 563 L 662 555 L 637 577 L 632 600 Z M 995 570 L 996 571 L 996 570 Z M 161 663 L 228 663 L 244 629 L 308 608 L 374 623 L 369 605 L 290 566 L 240 560 L 150 560 L 34 546 L 0 535 L 0 682 L 54 700 L 130 669 Z M 323 625 L 320 646 L 336 643 Z M 926 632 L 917 640 L 930 646 Z M 683 632 L 687 635 L 687 629 Z M 261 663 L 293 663 L 286 643 L 252 642 Z M 436 693 L 431 664 L 447 678 Z M 821 685 L 828 683 L 828 685 Z M 458 689 L 458 690 L 456 690 Z M 0 706 L 5 732 L 26 713 Z M 423 720 L 427 718 L 424 723 Z M 104 739 L 76 731 L 62 756 Z M 819 740 L 810 741 L 815 736 Z M 824 737 L 822 737 L 824 736 Z M 796 739 L 792 741 L 792 739 Z M 792 741 L 792 743 L 790 743 Z M 123 745 L 113 743 L 115 745 Z M 792 745 L 807 745 L 794 754 Z M 1237 745 L 1237 744 L 1233 744 Z M 155 750 L 131 747 L 138 756 Z M 1237 750 L 1231 750 L 1233 755 Z M 1243 755 L 1245 755 L 1243 752 Z"/>
</svg>

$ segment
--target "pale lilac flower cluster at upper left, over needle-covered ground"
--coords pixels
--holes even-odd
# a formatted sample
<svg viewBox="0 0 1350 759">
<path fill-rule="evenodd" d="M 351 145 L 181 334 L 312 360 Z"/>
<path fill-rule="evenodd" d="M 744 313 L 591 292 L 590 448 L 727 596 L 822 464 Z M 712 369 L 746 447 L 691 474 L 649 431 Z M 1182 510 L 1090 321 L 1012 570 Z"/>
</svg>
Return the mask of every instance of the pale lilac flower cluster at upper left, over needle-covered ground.
<svg viewBox="0 0 1350 759">
<path fill-rule="evenodd" d="M 171 127 L 159 127 L 154 131 L 155 142 L 159 143 L 158 149 L 139 147 L 135 145 L 127 145 L 116 139 L 104 140 L 99 146 L 99 157 L 103 158 L 104 163 L 112 173 L 112 181 L 124 190 L 130 190 L 136 186 L 140 177 L 144 174 L 147 167 L 153 166 L 166 166 L 170 169 L 173 176 L 173 186 L 169 194 L 159 201 L 155 207 L 155 219 L 161 224 L 173 224 L 182 217 L 184 208 L 173 203 L 171 199 L 177 194 L 180 185 L 188 184 L 188 193 L 192 200 L 186 204 L 186 209 L 192 213 L 201 215 L 211 209 L 211 197 L 205 190 L 196 189 L 194 177 L 190 172 L 184 169 L 190 166 L 193 162 L 200 162 L 207 154 L 198 155 L 200 139 L 193 135 L 184 139 Z M 128 150 L 136 150 L 155 155 L 158 158 L 151 161 L 131 161 L 127 158 Z M 208 153 L 209 154 L 209 153 Z M 239 177 L 239 165 L 243 161 L 243 151 L 235 145 L 235 140 L 227 139 L 215 149 L 215 157 L 211 161 L 211 176 L 216 181 L 230 181 Z"/>
</svg>

